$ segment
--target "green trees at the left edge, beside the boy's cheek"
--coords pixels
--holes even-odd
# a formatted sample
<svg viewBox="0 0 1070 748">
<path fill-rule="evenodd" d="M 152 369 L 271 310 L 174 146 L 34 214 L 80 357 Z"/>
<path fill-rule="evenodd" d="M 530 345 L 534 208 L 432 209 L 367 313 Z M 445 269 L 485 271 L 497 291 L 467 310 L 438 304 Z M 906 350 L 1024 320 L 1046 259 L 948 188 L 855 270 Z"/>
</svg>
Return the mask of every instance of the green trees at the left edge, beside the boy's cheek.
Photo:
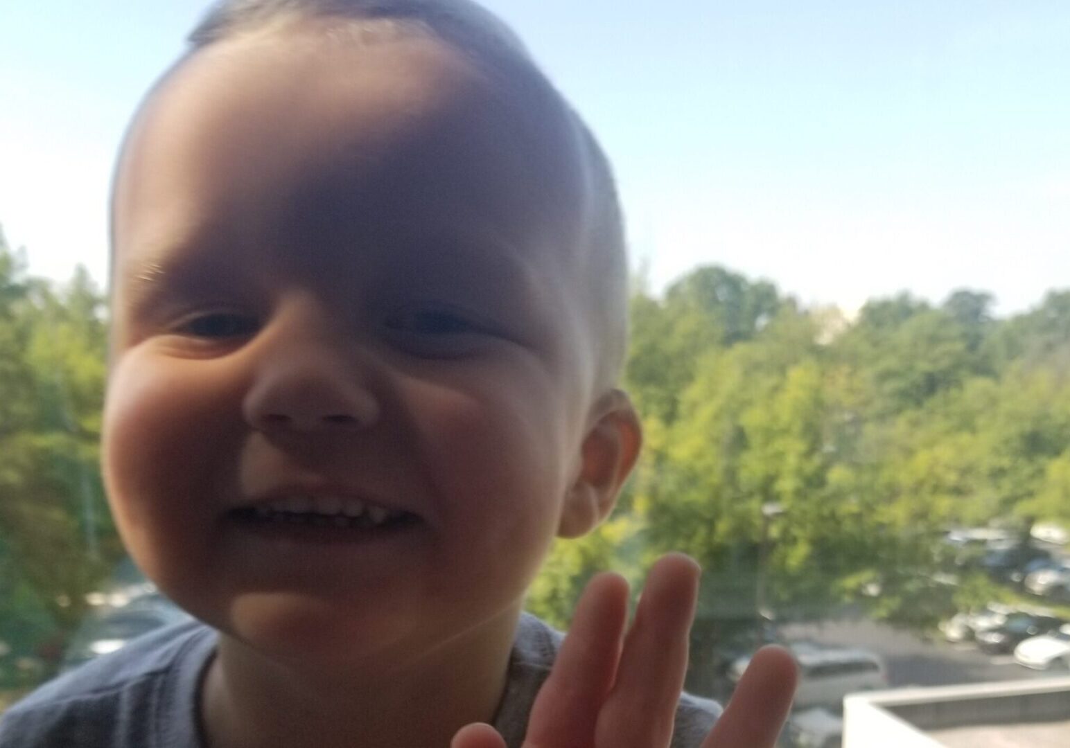
<svg viewBox="0 0 1070 748">
<path fill-rule="evenodd" d="M 103 303 L 83 270 L 28 277 L 0 235 L 0 685 L 55 657 L 120 553 L 97 468 Z"/>
</svg>

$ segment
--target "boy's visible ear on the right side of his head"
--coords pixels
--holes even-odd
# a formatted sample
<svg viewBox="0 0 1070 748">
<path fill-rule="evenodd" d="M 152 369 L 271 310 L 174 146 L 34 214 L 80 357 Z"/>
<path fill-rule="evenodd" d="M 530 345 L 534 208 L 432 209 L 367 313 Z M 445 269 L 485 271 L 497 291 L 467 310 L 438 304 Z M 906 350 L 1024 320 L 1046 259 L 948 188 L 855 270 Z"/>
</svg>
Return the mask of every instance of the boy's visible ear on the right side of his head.
<svg viewBox="0 0 1070 748">
<path fill-rule="evenodd" d="M 592 412 L 578 475 L 562 507 L 561 537 L 586 535 L 609 516 L 643 443 L 639 416 L 623 391 L 606 393 Z"/>
</svg>

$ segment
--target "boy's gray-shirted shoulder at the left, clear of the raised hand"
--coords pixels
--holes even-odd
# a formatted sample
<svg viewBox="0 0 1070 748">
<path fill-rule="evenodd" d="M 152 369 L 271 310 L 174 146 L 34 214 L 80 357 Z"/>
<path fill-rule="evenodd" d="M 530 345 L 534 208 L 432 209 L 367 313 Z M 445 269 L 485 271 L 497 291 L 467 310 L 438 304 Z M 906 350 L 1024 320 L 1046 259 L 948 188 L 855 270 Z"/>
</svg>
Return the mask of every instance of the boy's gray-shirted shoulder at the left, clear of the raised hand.
<svg viewBox="0 0 1070 748">
<path fill-rule="evenodd" d="M 195 705 L 215 631 L 199 622 L 167 626 L 63 674 L 0 718 L 0 748 L 152 746 L 159 720 Z"/>
</svg>

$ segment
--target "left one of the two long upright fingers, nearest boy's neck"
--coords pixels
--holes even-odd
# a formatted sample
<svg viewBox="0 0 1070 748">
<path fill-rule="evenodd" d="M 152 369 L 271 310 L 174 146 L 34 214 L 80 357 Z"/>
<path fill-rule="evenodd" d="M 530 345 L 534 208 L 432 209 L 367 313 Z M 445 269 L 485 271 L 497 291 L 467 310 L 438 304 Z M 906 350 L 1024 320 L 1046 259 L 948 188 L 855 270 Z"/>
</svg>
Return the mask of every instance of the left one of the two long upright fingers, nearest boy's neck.
<svg viewBox="0 0 1070 748">
<path fill-rule="evenodd" d="M 525 748 L 594 743 L 595 724 L 613 685 L 628 620 L 628 583 L 600 574 L 587 583 L 528 722 Z"/>
</svg>

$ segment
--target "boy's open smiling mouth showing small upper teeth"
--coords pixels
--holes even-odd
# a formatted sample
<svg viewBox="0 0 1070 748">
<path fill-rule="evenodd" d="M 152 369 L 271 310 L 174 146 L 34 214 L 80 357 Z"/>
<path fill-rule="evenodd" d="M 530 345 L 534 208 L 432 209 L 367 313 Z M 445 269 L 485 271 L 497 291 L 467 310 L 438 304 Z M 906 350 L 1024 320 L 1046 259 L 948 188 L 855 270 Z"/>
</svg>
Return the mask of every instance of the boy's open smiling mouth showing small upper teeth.
<svg viewBox="0 0 1070 748">
<path fill-rule="evenodd" d="M 419 517 L 403 509 L 330 493 L 294 493 L 235 507 L 227 513 L 227 517 L 257 530 L 320 531 L 317 534 L 342 534 L 343 538 L 354 531 L 360 531 L 358 534 L 387 532 L 421 521 Z"/>
</svg>

